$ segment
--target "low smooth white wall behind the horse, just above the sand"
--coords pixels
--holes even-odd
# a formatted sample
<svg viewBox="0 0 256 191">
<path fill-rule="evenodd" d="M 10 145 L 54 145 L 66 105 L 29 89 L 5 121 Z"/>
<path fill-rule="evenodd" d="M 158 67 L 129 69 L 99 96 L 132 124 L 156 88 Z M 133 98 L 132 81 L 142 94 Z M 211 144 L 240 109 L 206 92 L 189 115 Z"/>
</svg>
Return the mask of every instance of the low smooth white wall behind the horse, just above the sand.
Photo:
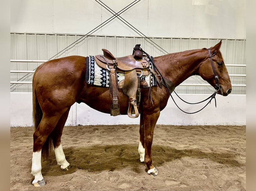
<svg viewBox="0 0 256 191">
<path fill-rule="evenodd" d="M 209 95 L 181 94 L 183 99 L 197 102 Z M 173 95 L 177 104 L 185 111 L 193 112 L 201 106 L 186 105 Z M 211 104 L 196 114 L 181 112 L 170 99 L 166 108 L 161 111 L 157 124 L 170 125 L 245 125 L 246 124 L 246 95 L 216 96 Z M 11 93 L 11 126 L 33 126 L 32 122 L 32 93 Z M 139 117 L 132 119 L 127 115 L 110 116 L 96 111 L 84 103 L 75 103 L 69 113 L 66 125 L 95 125 L 95 124 L 139 124 Z"/>
</svg>

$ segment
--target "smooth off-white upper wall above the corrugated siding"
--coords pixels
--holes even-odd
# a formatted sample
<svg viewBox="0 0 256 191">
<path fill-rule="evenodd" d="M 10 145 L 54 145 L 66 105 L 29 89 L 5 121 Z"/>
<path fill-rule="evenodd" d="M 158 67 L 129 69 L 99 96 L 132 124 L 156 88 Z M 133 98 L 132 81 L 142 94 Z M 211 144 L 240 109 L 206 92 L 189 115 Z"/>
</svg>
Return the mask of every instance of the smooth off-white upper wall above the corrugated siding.
<svg viewBox="0 0 256 191">
<path fill-rule="evenodd" d="M 11 0 L 11 32 L 87 34 L 112 16 L 95 0 Z M 246 0 L 141 0 L 120 16 L 151 37 L 246 38 Z M 117 18 L 94 34 L 139 36 Z"/>
</svg>

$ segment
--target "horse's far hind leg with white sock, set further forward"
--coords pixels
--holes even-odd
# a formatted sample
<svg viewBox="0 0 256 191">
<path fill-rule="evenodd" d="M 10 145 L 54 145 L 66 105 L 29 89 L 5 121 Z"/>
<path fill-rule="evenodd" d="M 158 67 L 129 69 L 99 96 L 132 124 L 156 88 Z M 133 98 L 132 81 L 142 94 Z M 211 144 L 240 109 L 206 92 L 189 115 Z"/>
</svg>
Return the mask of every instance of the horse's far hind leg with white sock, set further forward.
<svg viewBox="0 0 256 191">
<path fill-rule="evenodd" d="M 54 152 L 55 152 L 57 163 L 58 165 L 60 165 L 60 168 L 64 171 L 69 170 L 71 168 L 70 163 L 66 160 L 65 154 L 62 149 L 61 140 L 60 140 L 63 127 L 69 115 L 69 110 L 70 108 L 65 113 L 63 113 L 63 115 L 58 120 L 56 127 L 50 134 L 50 136 L 52 137 L 52 143 L 54 146 Z"/>
</svg>

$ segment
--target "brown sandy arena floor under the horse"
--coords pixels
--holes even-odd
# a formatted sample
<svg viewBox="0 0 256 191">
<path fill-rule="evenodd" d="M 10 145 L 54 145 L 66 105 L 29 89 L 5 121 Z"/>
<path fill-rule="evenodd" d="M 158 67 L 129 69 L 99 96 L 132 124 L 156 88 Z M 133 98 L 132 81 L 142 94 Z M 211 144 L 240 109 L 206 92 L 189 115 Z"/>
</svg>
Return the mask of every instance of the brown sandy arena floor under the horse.
<svg viewBox="0 0 256 191">
<path fill-rule="evenodd" d="M 31 184 L 33 132 L 11 128 L 11 190 L 246 190 L 246 126 L 156 125 L 156 177 L 139 161 L 139 125 L 66 126 L 61 143 L 73 167 L 61 171 L 54 155 L 42 160 L 39 188 Z"/>
</svg>

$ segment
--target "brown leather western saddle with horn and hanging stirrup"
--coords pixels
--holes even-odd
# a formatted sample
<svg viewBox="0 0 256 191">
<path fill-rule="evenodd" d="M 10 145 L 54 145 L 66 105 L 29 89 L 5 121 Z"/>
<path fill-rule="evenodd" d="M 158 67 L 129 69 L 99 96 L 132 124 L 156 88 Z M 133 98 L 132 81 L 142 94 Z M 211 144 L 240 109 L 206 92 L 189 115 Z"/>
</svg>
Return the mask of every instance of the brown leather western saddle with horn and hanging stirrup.
<svg viewBox="0 0 256 191">
<path fill-rule="evenodd" d="M 95 61 L 100 67 L 109 71 L 110 90 L 113 98 L 110 114 L 113 116 L 120 114 L 118 88 L 121 88 L 123 93 L 129 97 L 127 115 L 131 118 L 138 117 L 138 107 L 140 103 L 140 77 L 147 76 L 149 73 L 152 73 L 158 84 L 160 84 L 157 74 L 154 70 L 149 68 L 149 59 L 143 55 L 140 44 L 134 47 L 132 55 L 120 58 L 115 58 L 113 54 L 106 49 L 102 49 L 102 51 L 103 55 L 96 55 Z M 125 74 L 125 79 L 119 82 L 119 84 L 117 81 L 117 72 Z M 145 86 L 148 87 L 147 85 Z"/>
</svg>

